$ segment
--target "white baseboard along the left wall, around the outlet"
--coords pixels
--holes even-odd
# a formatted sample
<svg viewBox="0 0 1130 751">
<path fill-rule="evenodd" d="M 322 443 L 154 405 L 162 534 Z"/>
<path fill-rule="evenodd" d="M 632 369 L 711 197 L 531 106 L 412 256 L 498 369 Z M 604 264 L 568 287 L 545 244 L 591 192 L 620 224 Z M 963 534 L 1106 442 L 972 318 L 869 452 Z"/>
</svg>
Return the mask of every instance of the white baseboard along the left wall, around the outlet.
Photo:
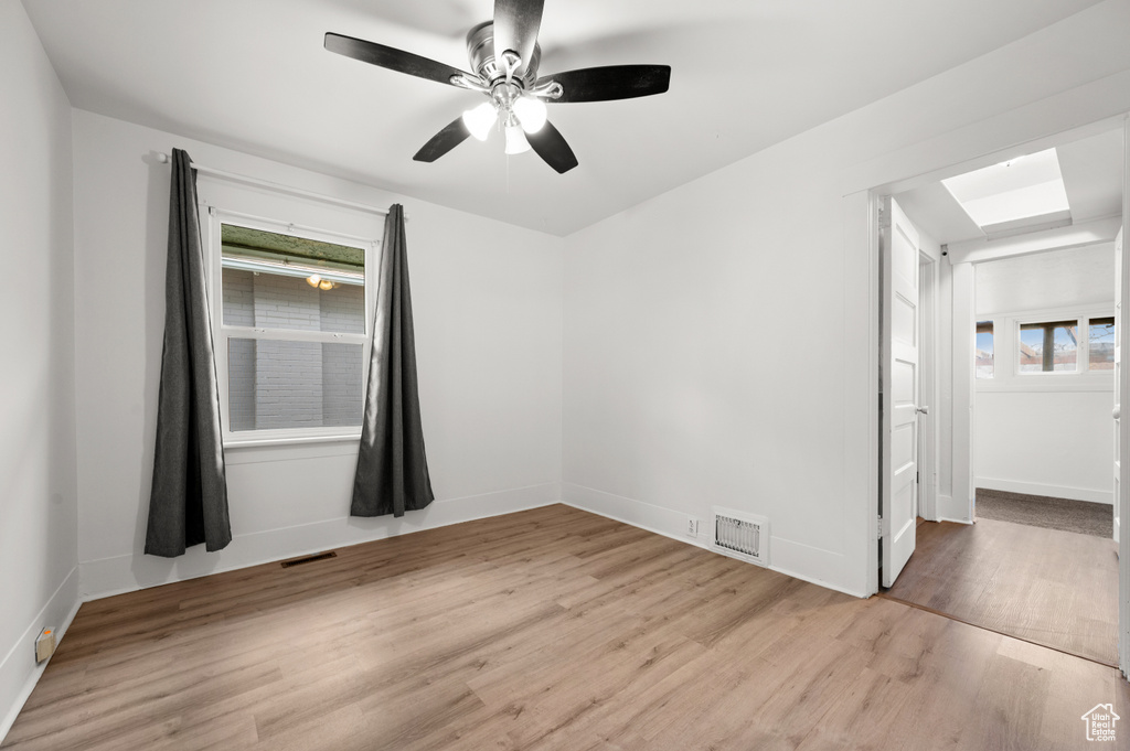
<svg viewBox="0 0 1130 751">
<path fill-rule="evenodd" d="M 82 604 L 78 594 L 78 583 L 79 569 L 76 566 L 36 613 L 35 619 L 28 623 L 16 644 L 11 645 L 3 662 L 0 662 L 0 713 L 3 713 L 0 715 L 0 743 L 3 743 L 20 709 L 32 696 L 32 690 L 40 682 L 47 663 L 51 662 L 47 660 L 43 664 L 36 664 L 35 638 L 49 626 L 55 629 L 56 643 L 67 635 L 67 629 L 75 620 L 75 613 Z"/>
</svg>

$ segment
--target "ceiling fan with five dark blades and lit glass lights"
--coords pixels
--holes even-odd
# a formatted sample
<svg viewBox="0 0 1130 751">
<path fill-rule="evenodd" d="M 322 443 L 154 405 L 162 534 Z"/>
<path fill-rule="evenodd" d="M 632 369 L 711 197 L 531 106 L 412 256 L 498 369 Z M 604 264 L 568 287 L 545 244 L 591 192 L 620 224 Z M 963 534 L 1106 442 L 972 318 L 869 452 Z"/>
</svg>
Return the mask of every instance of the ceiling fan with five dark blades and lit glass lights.
<svg viewBox="0 0 1130 751">
<path fill-rule="evenodd" d="M 494 21 L 467 34 L 471 70 L 375 42 L 328 33 L 325 49 L 373 66 L 485 94 L 484 102 L 453 120 L 416 152 L 417 161 L 435 161 L 469 136 L 486 140 L 496 124 L 504 129 L 506 154 L 532 148 L 556 169 L 576 166 L 560 132 L 546 121 L 546 103 L 608 102 L 662 94 L 670 66 L 605 66 L 538 77 L 538 29 L 545 0 L 495 0 Z"/>
</svg>

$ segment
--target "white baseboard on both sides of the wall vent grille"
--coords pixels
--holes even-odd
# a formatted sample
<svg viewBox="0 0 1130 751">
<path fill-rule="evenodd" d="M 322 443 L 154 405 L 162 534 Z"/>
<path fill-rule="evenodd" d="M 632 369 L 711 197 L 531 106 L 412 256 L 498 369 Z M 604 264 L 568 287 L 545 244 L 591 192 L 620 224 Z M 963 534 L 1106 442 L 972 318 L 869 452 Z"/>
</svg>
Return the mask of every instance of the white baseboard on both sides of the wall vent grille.
<svg viewBox="0 0 1130 751">
<path fill-rule="evenodd" d="M 683 512 L 572 482 L 562 483 L 562 503 L 711 550 L 709 531 L 701 531 L 697 538 L 688 536 L 684 532 L 689 514 Z M 776 535 L 771 538 L 770 550 L 772 558 L 767 568 L 774 571 L 855 597 L 867 596 L 866 593 L 857 592 L 841 580 L 841 575 L 849 568 L 844 565 L 842 553 L 812 548 Z"/>
</svg>

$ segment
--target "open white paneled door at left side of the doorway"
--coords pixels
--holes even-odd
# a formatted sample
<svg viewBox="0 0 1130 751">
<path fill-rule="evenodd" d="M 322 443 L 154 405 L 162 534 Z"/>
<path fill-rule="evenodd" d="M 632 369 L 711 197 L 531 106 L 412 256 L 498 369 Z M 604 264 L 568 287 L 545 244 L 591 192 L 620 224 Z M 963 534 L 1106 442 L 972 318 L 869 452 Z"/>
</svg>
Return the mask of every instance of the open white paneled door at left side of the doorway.
<svg viewBox="0 0 1130 751">
<path fill-rule="evenodd" d="M 914 552 L 918 494 L 919 234 L 894 199 L 884 199 L 881 243 L 883 586 Z"/>
</svg>

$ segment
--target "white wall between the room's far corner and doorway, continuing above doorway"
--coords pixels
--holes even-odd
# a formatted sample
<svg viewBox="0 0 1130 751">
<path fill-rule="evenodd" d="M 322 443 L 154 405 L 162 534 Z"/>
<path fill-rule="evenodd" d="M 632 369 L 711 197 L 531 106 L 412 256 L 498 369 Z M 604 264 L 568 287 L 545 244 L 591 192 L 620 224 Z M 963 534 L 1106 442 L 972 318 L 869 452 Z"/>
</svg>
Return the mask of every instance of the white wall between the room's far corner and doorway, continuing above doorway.
<svg viewBox="0 0 1130 751">
<path fill-rule="evenodd" d="M 1128 35 L 1102 3 L 568 237 L 564 498 L 672 535 L 763 515 L 773 567 L 868 592 L 866 191 L 1130 108 Z"/>
</svg>

